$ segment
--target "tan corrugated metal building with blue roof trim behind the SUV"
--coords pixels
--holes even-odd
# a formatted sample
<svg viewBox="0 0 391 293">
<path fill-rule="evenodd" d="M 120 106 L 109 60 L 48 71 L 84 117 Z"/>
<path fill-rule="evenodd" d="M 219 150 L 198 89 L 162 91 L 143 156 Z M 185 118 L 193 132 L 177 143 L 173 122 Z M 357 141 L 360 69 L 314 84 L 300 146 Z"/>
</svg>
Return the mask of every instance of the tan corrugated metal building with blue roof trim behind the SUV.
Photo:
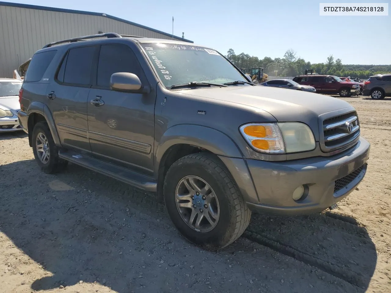
<svg viewBox="0 0 391 293">
<path fill-rule="evenodd" d="M 172 39 L 172 34 L 105 13 L 0 2 L 0 77 L 13 77 L 47 43 L 99 32 Z"/>
</svg>

